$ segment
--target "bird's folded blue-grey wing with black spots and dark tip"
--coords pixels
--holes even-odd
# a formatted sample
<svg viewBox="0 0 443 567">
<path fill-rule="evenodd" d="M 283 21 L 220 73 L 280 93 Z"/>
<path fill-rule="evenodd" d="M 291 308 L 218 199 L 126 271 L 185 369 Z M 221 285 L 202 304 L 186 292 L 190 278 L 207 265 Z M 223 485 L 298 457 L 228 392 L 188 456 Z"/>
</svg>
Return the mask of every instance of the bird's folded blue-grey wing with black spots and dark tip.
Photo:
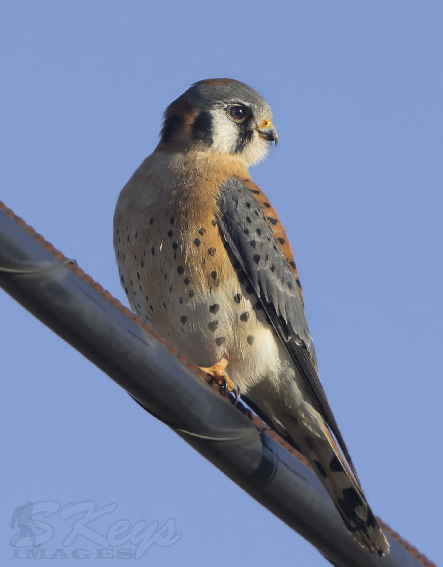
<svg viewBox="0 0 443 567">
<path fill-rule="evenodd" d="M 303 376 L 313 405 L 335 435 L 355 473 L 318 377 L 317 359 L 303 302 L 271 226 L 253 194 L 238 179 L 228 179 L 219 187 L 219 208 L 222 212 L 219 226 L 229 248 Z"/>
</svg>

